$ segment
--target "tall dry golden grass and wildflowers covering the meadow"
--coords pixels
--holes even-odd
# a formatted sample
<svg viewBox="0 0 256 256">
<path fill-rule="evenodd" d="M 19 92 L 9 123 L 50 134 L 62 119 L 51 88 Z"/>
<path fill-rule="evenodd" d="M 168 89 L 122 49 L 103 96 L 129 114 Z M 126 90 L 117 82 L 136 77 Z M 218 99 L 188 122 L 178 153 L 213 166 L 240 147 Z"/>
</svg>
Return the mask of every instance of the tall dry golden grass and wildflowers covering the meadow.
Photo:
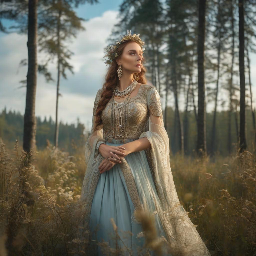
<svg viewBox="0 0 256 256">
<path fill-rule="evenodd" d="M 0 255 L 96 255 L 90 239 L 79 237 L 89 232 L 81 225 L 85 210 L 76 206 L 86 168 L 83 151 L 70 156 L 48 144 L 18 155 L 16 141 L 12 155 L 0 138 Z M 254 255 L 255 155 L 218 156 L 214 163 L 176 155 L 170 165 L 179 199 L 211 254 Z M 144 248 L 162 255 L 152 216 L 137 218 L 143 221 L 145 232 L 138 236 L 145 236 Z M 112 224 L 115 248 L 95 242 L 106 255 L 134 255 L 120 242 L 113 219 Z"/>
</svg>

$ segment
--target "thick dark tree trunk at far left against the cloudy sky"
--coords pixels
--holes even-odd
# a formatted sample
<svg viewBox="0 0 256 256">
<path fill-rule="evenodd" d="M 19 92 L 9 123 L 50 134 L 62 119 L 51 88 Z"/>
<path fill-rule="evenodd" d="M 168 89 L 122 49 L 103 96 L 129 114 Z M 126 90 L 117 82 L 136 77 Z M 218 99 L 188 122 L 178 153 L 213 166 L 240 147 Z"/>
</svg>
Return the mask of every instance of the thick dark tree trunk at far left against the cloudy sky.
<svg viewBox="0 0 256 256">
<path fill-rule="evenodd" d="M 37 82 L 37 0 L 28 1 L 28 72 L 24 114 L 23 150 L 36 147 L 36 82 Z"/>
</svg>

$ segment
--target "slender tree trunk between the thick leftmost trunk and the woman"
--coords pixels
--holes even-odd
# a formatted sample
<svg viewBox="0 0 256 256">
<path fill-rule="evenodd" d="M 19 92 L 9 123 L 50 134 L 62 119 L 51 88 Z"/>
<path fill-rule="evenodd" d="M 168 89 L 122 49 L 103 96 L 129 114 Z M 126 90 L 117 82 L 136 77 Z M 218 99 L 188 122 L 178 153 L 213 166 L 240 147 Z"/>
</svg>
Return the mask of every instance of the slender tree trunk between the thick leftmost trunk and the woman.
<svg viewBox="0 0 256 256">
<path fill-rule="evenodd" d="M 56 93 L 56 113 L 55 113 L 55 134 L 54 134 L 54 141 L 55 147 L 59 146 L 59 122 L 58 122 L 58 104 L 59 104 L 59 88 L 60 88 L 60 18 L 61 18 L 61 0 L 58 1 L 59 3 L 59 16 L 58 16 L 58 23 L 57 23 L 57 47 L 58 47 L 58 74 L 57 74 L 57 93 Z"/>
</svg>

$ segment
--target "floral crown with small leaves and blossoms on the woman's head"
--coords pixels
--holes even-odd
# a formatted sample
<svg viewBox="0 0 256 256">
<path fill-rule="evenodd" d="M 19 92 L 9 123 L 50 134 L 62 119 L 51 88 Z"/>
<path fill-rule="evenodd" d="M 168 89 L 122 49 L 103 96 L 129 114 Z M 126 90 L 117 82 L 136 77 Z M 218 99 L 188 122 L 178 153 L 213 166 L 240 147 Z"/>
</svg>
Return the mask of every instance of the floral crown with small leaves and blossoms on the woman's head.
<svg viewBox="0 0 256 256">
<path fill-rule="evenodd" d="M 112 64 L 113 60 L 115 60 L 119 56 L 118 53 L 116 52 L 116 49 L 118 49 L 118 47 L 123 42 L 132 40 L 134 42 L 137 42 L 142 48 L 142 46 L 144 45 L 145 42 L 143 42 L 140 39 L 139 35 L 140 34 L 138 34 L 138 35 L 133 34 L 132 35 L 132 30 L 130 30 L 130 32 L 129 32 L 129 30 L 127 29 L 127 34 L 125 36 L 120 35 L 122 37 L 122 39 L 120 41 L 117 41 L 117 42 L 115 42 L 115 44 L 110 45 L 110 46 L 105 48 L 105 56 L 103 58 L 107 57 L 107 59 L 104 61 L 104 63 L 106 65 L 111 65 Z M 145 48 L 142 48 L 142 50 L 144 51 Z"/>
</svg>

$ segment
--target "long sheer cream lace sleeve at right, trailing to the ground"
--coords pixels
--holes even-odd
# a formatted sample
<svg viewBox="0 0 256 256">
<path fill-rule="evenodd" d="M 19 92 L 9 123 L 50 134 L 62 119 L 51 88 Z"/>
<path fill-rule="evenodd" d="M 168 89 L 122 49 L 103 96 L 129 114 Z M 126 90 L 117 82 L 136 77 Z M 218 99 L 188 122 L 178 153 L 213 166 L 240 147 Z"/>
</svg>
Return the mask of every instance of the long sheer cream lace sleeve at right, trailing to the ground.
<svg viewBox="0 0 256 256">
<path fill-rule="evenodd" d="M 151 147 L 146 150 L 160 205 L 157 214 L 167 234 L 168 244 L 173 255 L 210 256 L 195 226 L 180 204 L 170 168 L 169 138 L 164 127 L 162 104 L 155 87 L 147 91 L 149 111 L 148 130 L 140 138 L 147 137 Z"/>
</svg>

